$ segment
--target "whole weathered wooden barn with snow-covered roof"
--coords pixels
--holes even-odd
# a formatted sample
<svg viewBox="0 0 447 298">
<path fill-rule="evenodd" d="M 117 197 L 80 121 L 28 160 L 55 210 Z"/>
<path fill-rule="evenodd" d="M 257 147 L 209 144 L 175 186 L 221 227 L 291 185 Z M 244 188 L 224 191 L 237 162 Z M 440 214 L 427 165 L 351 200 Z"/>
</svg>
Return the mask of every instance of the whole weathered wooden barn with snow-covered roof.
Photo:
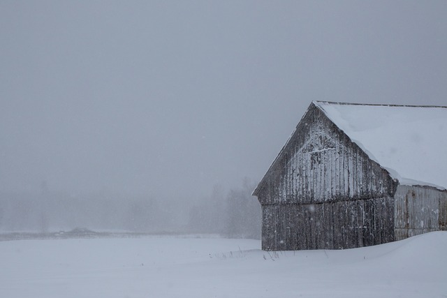
<svg viewBox="0 0 447 298">
<path fill-rule="evenodd" d="M 447 107 L 312 102 L 254 190 L 267 251 L 447 230 Z"/>
</svg>

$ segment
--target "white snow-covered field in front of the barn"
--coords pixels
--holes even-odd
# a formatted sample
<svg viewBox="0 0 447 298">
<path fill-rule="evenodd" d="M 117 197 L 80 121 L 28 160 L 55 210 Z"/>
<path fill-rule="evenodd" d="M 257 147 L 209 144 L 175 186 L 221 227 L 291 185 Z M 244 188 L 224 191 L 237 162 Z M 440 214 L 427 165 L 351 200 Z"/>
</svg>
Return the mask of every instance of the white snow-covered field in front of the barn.
<svg viewBox="0 0 447 298">
<path fill-rule="evenodd" d="M 447 297 L 447 232 L 345 251 L 249 239 L 0 242 L 0 297 Z"/>
</svg>

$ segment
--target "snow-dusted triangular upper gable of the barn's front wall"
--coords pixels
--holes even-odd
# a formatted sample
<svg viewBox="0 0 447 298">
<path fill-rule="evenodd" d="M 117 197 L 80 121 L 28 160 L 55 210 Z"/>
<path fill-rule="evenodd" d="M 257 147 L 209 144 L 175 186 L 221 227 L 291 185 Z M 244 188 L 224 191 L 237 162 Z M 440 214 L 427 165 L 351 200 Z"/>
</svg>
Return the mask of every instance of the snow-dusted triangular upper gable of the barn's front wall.
<svg viewBox="0 0 447 298">
<path fill-rule="evenodd" d="M 261 204 L 380 198 L 393 193 L 394 181 L 386 170 L 323 112 L 314 109 L 308 114 L 295 131 L 297 139 L 284 148 L 265 181 L 262 188 L 268 195 L 259 193 Z"/>
</svg>

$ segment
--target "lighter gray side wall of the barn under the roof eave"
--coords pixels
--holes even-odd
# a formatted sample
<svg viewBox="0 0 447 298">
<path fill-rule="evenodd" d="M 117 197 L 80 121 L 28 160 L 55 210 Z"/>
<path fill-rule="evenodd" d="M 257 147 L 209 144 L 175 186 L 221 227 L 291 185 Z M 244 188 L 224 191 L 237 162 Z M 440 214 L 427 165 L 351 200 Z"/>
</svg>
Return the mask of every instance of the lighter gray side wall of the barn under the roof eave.
<svg viewBox="0 0 447 298">
<path fill-rule="evenodd" d="M 447 193 L 423 186 L 398 186 L 395 193 L 395 238 L 447 230 Z"/>
</svg>

